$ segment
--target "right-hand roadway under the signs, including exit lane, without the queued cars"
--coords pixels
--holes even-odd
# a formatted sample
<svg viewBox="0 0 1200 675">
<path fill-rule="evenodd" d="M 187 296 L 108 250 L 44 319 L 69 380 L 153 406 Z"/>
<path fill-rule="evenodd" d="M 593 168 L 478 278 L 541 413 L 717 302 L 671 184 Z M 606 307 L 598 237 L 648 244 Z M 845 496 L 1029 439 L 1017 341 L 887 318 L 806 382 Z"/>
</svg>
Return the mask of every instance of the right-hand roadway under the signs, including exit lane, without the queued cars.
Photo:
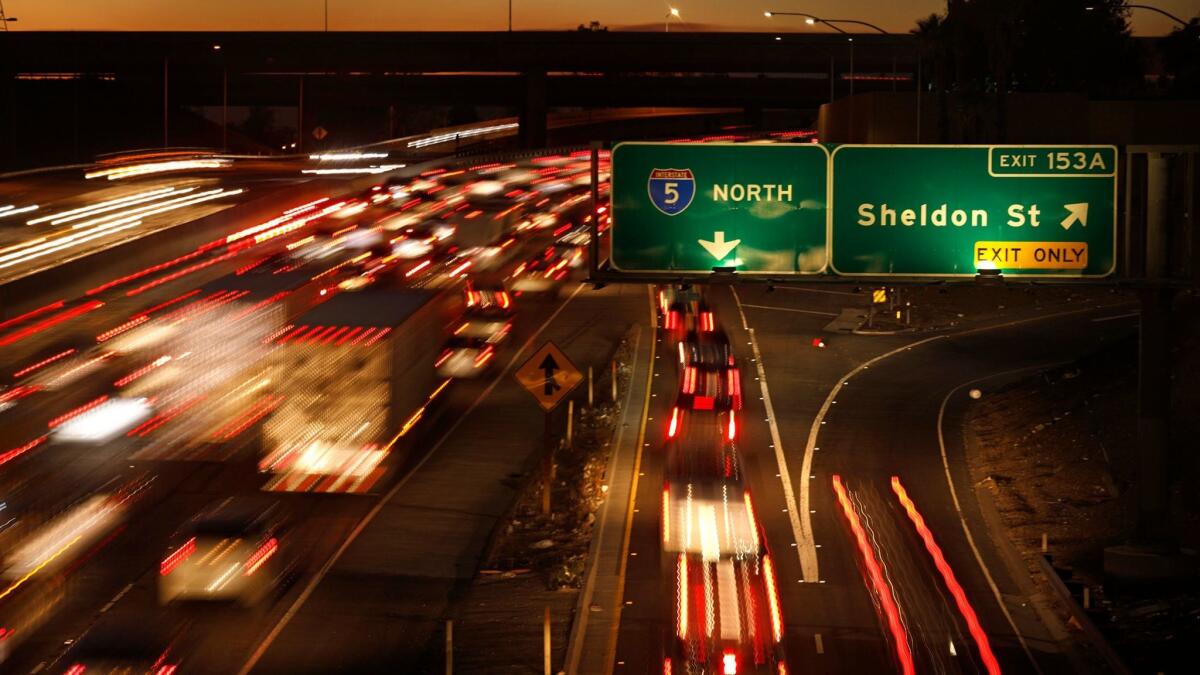
<svg viewBox="0 0 1200 675">
<path fill-rule="evenodd" d="M 842 307 L 863 306 L 863 295 L 850 291 L 721 287 L 708 295 L 742 359 L 746 407 L 738 447 L 779 569 L 788 673 L 1092 671 L 1096 664 L 1064 639 L 1057 620 L 1038 610 L 1044 599 L 1031 596 L 1024 563 L 983 518 L 959 422 L 971 389 L 986 395 L 1128 335 L 1135 328 L 1128 318 L 1096 321 L 1128 306 L 1108 297 L 998 312 L 952 331 L 826 333 Z M 814 346 L 814 338 L 827 346 Z M 655 360 L 624 597 L 614 608 L 614 673 L 661 670 L 662 635 L 673 629 L 673 584 L 662 579 L 658 555 L 658 477 L 677 388 L 668 359 Z M 923 534 L 944 565 L 934 562 Z M 868 554 L 881 585 L 872 584 Z M 965 605 L 954 597 L 958 587 Z M 888 605 L 898 617 L 890 626 Z M 985 653 L 998 670 L 989 669 Z"/>
</svg>

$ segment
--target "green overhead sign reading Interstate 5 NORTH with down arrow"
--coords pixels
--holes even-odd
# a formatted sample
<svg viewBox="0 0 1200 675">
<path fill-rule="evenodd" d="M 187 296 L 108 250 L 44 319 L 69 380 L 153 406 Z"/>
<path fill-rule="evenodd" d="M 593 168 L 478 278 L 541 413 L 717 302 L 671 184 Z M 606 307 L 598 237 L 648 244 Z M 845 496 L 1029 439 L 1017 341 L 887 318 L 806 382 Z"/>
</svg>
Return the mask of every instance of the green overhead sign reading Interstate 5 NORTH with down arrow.
<svg viewBox="0 0 1200 675">
<path fill-rule="evenodd" d="M 617 271 L 821 274 L 829 154 L 816 144 L 622 143 Z"/>
</svg>

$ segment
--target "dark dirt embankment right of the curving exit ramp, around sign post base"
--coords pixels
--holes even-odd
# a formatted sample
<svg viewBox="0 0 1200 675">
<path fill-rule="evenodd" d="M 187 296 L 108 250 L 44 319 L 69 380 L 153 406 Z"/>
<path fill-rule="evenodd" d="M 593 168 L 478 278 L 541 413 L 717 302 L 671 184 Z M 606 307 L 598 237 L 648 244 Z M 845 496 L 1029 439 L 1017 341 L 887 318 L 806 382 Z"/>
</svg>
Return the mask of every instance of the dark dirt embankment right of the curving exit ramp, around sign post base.
<svg viewBox="0 0 1200 675">
<path fill-rule="evenodd" d="M 1200 548 L 1200 315 L 1180 298 L 1172 356 L 1171 503 L 1184 549 Z M 1117 587 L 1103 551 L 1128 542 L 1136 519 L 1136 339 L 988 392 L 967 414 L 972 482 L 991 491 L 1033 578 L 1042 536 L 1054 566 L 1086 585 L 1093 621 L 1138 673 L 1180 669 L 1200 639 L 1200 583 Z M 1066 621 L 1066 616 L 1063 617 Z"/>
</svg>

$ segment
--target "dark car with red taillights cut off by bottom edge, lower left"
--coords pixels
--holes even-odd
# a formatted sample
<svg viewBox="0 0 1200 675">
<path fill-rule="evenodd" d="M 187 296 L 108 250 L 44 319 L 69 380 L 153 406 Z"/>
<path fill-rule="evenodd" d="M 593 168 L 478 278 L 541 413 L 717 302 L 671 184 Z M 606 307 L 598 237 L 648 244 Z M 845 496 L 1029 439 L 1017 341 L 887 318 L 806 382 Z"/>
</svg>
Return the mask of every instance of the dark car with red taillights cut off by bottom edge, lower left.
<svg viewBox="0 0 1200 675">
<path fill-rule="evenodd" d="M 64 675 L 175 675 L 182 629 L 158 615 L 102 619 L 71 646 Z"/>
</svg>

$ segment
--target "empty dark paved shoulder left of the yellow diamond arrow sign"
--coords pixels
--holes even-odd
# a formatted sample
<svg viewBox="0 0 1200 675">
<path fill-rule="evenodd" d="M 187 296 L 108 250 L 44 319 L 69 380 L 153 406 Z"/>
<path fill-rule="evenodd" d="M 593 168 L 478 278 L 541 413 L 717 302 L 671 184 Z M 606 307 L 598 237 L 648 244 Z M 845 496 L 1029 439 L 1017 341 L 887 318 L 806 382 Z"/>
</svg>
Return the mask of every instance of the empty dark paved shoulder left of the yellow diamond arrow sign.
<svg viewBox="0 0 1200 675">
<path fill-rule="evenodd" d="M 517 299 L 518 307 L 524 299 Z M 582 291 L 522 356 L 550 339 L 577 366 L 604 366 L 617 340 L 644 313 L 644 301 L 619 286 Z M 558 306 L 547 303 L 547 309 Z M 497 360 L 511 363 L 517 346 L 540 327 L 538 321 L 521 324 L 510 351 Z M 446 435 L 420 446 L 418 454 L 432 454 L 389 492 L 392 498 L 378 507 L 379 516 L 346 545 L 294 620 L 278 627 L 277 639 L 262 645 L 253 671 L 379 670 L 439 658 L 440 645 L 430 645 L 431 635 L 474 577 L 522 478 L 539 466 L 542 414 L 504 371 L 493 372 L 500 377 L 494 389 L 491 378 L 476 382 L 486 394 L 476 399 L 480 405 L 458 412 L 448 420 Z"/>
</svg>

